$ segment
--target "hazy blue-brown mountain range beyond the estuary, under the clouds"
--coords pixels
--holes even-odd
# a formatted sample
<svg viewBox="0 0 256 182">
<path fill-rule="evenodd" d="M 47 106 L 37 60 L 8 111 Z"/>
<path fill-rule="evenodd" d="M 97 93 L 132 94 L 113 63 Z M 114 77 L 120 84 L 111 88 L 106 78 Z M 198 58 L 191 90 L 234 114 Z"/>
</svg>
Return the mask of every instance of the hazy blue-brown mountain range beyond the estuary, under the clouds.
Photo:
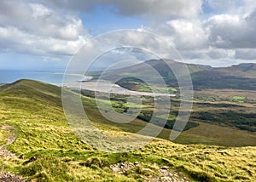
<svg viewBox="0 0 256 182">
<path fill-rule="evenodd" d="M 168 65 L 166 65 L 166 63 Z M 129 82 L 137 82 L 135 79 L 139 73 L 143 77 L 152 74 L 148 71 L 148 65 L 152 66 L 155 71 L 158 71 L 160 76 L 165 80 L 170 87 L 178 88 L 177 79 L 172 70 L 169 68 L 187 68 L 192 78 L 193 87 L 197 90 L 210 88 L 230 88 L 243 90 L 256 90 L 256 64 L 240 64 L 230 67 L 212 68 L 209 65 L 193 65 L 176 62 L 173 60 L 148 60 L 138 65 L 132 65 L 126 68 L 121 68 L 114 71 L 104 73 L 103 79 L 115 80 L 117 77 L 124 77 L 122 82 L 117 82 L 120 86 L 134 90 L 134 84 Z M 94 77 L 98 77 L 101 71 L 94 72 Z M 183 74 L 182 72 L 180 74 Z M 133 77 L 134 80 L 131 78 Z M 184 77 L 187 77 L 184 74 Z M 151 81 L 157 84 L 159 80 L 150 77 Z"/>
</svg>

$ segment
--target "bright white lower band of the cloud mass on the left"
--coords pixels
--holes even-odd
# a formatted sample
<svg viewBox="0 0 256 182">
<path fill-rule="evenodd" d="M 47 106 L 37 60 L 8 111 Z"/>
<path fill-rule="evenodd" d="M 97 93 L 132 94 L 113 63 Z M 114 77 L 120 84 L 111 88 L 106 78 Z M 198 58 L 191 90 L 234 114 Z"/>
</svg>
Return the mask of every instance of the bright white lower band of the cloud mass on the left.
<svg viewBox="0 0 256 182">
<path fill-rule="evenodd" d="M 74 54 L 82 45 L 84 38 L 75 41 L 53 37 L 38 37 L 15 27 L 0 27 L 0 48 L 29 54 Z"/>
</svg>

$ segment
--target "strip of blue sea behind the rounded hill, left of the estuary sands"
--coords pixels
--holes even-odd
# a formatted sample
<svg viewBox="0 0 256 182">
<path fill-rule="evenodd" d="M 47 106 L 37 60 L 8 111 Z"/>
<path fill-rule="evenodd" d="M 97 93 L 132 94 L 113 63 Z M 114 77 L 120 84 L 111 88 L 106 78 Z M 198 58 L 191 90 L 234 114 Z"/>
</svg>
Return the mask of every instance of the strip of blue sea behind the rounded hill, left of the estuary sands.
<svg viewBox="0 0 256 182">
<path fill-rule="evenodd" d="M 0 71 L 0 82 L 10 83 L 20 79 L 32 79 L 47 82 L 57 86 L 62 85 L 64 71 Z M 73 81 L 79 81 L 83 76 L 73 74 Z"/>
</svg>

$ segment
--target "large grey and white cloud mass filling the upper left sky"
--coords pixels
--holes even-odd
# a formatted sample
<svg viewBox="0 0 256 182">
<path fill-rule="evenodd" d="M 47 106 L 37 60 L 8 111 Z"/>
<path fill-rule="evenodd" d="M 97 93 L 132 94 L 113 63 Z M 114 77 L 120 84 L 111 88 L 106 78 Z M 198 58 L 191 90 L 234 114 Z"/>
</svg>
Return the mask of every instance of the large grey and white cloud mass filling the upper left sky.
<svg viewBox="0 0 256 182">
<path fill-rule="evenodd" d="M 88 31 L 73 14 L 40 3 L 0 2 L 0 49 L 26 54 L 74 54 Z"/>
</svg>

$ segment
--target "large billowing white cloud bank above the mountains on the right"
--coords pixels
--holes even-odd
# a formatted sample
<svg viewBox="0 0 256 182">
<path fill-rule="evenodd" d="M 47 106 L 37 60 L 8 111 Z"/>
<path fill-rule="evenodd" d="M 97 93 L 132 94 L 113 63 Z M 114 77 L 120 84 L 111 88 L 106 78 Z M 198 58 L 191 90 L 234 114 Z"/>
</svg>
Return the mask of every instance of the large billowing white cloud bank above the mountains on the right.
<svg viewBox="0 0 256 182">
<path fill-rule="evenodd" d="M 256 60 L 256 9 L 241 12 L 169 20 L 151 30 L 172 42 L 187 62 L 214 66 L 252 62 Z"/>
</svg>

